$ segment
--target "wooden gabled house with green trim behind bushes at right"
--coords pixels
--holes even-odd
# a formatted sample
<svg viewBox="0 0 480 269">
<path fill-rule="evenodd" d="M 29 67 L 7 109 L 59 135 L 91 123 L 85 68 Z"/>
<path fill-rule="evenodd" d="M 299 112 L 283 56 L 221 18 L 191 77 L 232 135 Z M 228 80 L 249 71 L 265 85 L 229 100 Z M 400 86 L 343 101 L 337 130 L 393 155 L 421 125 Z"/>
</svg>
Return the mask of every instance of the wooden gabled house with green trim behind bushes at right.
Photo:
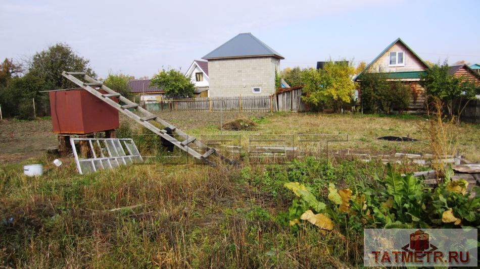
<svg viewBox="0 0 480 269">
<path fill-rule="evenodd" d="M 424 111 L 424 89 L 418 83 L 428 65 L 402 39 L 397 38 L 360 72 L 354 81 L 360 82 L 364 72 L 385 73 L 389 80 L 402 81 L 410 86 L 412 98 L 408 112 Z"/>
</svg>

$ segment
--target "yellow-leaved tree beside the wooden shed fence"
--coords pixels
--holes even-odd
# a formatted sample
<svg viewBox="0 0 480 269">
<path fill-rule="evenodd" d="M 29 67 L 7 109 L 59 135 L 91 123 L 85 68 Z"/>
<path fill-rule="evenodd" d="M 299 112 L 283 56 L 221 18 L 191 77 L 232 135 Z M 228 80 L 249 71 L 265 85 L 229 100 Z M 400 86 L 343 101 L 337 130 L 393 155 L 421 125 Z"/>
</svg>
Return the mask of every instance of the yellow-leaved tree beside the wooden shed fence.
<svg viewBox="0 0 480 269">
<path fill-rule="evenodd" d="M 343 62 L 327 62 L 323 69 L 306 69 L 302 72 L 302 99 L 314 106 L 331 106 L 340 112 L 343 104 L 350 102 L 355 85 L 352 81 L 354 68 Z"/>
</svg>

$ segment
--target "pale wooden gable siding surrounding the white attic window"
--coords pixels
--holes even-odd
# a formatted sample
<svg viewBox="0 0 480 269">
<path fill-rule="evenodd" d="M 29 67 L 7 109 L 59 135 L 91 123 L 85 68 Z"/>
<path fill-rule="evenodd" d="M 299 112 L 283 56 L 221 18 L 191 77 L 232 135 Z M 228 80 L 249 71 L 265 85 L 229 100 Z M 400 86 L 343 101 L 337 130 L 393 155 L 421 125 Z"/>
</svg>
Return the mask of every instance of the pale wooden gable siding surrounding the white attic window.
<svg viewBox="0 0 480 269">
<path fill-rule="evenodd" d="M 393 51 L 405 52 L 405 66 L 389 67 L 389 53 Z M 378 68 L 380 68 L 381 72 L 423 71 L 426 69 L 423 63 L 400 41 L 389 48 L 387 52 L 383 53 L 383 55 L 372 64 L 372 68 L 374 71 L 378 71 Z"/>
</svg>

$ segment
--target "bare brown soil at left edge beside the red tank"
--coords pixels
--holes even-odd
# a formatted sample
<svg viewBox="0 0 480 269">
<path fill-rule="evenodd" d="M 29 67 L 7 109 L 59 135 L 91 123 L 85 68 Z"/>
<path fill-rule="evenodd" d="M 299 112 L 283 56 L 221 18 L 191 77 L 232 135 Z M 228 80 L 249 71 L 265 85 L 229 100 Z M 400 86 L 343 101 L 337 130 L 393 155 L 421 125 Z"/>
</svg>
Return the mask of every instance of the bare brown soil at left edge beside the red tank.
<svg viewBox="0 0 480 269">
<path fill-rule="evenodd" d="M 0 121 L 0 164 L 41 156 L 47 147 L 56 145 L 50 120 Z"/>
</svg>

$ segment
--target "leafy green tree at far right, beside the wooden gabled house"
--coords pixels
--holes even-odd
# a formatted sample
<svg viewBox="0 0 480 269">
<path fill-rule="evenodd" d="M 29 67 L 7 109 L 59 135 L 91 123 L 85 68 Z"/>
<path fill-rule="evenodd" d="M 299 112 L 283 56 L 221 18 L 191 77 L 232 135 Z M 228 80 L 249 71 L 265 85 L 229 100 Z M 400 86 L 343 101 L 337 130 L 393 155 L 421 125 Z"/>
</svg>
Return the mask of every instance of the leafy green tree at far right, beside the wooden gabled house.
<svg viewBox="0 0 480 269">
<path fill-rule="evenodd" d="M 444 103 L 450 119 L 459 121 L 468 102 L 480 93 L 480 88 L 473 81 L 465 77 L 454 77 L 448 72 L 447 62 L 443 65 L 437 63 L 427 69 L 425 75 L 421 75 L 420 85 L 427 95 L 437 97 Z"/>
</svg>

